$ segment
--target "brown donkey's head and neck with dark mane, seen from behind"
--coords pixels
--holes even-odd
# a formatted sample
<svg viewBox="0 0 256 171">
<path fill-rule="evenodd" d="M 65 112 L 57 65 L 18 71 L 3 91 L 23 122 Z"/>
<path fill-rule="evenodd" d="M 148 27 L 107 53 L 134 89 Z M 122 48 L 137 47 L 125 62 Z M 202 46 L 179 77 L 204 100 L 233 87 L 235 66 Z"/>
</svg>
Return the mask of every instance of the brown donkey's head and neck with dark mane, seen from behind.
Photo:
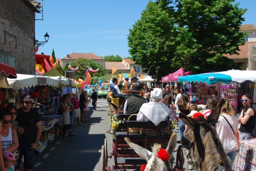
<svg viewBox="0 0 256 171">
<path fill-rule="evenodd" d="M 194 166 L 201 171 L 231 171 L 230 159 L 215 129 L 224 104 L 225 100 L 222 99 L 206 119 L 195 120 L 179 114 L 182 122 L 190 128 L 186 133 L 187 138 L 182 136 L 181 143 L 189 150 Z"/>
</svg>

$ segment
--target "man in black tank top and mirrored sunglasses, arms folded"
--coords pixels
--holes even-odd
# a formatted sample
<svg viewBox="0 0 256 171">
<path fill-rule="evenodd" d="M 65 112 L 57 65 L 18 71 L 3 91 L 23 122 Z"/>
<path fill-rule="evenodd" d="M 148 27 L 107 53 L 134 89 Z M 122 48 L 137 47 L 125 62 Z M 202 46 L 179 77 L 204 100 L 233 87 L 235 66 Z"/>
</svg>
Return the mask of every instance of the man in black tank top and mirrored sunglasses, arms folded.
<svg viewBox="0 0 256 171">
<path fill-rule="evenodd" d="M 252 122 L 255 118 L 255 111 L 251 107 L 250 103 L 252 103 L 251 96 L 249 94 L 245 94 L 242 96 L 241 102 L 244 105 L 244 109 L 242 110 L 239 118 L 237 119 L 240 122 L 240 134 L 239 140 L 248 140 L 251 139 L 252 132 Z"/>
</svg>

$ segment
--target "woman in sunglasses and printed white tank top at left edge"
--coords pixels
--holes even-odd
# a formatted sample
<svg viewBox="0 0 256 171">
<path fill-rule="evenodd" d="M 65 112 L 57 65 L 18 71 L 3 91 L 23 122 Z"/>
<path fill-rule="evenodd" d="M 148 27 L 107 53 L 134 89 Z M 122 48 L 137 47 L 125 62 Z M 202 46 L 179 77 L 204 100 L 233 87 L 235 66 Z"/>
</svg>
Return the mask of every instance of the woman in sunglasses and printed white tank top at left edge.
<svg viewBox="0 0 256 171">
<path fill-rule="evenodd" d="M 1 119 L 3 120 L 3 129 L 2 132 L 0 132 L 2 154 L 7 151 L 13 153 L 13 151 L 18 148 L 19 142 L 16 130 L 11 127 L 12 117 L 8 112 L 4 112 L 1 116 Z M 12 165 L 12 168 L 14 169 L 14 165 Z"/>
</svg>

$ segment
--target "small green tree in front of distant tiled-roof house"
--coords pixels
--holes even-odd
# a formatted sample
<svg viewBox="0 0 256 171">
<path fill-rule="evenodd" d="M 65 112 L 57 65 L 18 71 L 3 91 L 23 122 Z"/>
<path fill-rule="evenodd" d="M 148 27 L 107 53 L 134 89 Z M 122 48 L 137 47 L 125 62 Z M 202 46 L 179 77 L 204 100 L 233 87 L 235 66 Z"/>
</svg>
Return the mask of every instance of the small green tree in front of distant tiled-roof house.
<svg viewBox="0 0 256 171">
<path fill-rule="evenodd" d="M 92 78 L 93 77 L 102 77 L 106 75 L 106 69 L 99 63 L 95 63 L 90 59 L 83 59 L 83 58 L 79 58 L 76 59 L 76 62 L 72 62 L 70 63 L 70 65 L 73 68 L 76 68 L 77 66 L 79 66 L 78 72 L 76 72 L 75 75 L 75 79 L 82 79 L 82 80 L 86 80 L 86 70 L 88 69 L 88 67 L 96 70 L 97 68 L 99 69 L 98 73 L 91 73 Z"/>
</svg>

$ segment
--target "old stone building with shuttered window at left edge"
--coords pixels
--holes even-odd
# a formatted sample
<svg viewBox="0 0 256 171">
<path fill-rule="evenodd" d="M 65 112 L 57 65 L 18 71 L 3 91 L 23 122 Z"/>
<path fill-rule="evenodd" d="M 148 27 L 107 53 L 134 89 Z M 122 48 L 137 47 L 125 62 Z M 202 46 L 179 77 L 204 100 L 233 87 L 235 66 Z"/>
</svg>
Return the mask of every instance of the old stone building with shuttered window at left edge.
<svg viewBox="0 0 256 171">
<path fill-rule="evenodd" d="M 0 0 L 0 62 L 16 73 L 35 71 L 35 12 L 30 0 Z"/>
</svg>

